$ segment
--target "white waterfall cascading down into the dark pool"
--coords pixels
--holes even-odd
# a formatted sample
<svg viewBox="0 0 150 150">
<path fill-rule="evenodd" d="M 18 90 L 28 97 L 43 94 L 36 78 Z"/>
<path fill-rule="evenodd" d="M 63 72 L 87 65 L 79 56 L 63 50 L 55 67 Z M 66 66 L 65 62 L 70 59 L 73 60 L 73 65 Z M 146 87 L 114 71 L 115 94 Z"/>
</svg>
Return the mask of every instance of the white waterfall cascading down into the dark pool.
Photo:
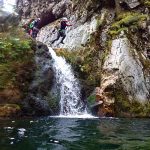
<svg viewBox="0 0 150 150">
<path fill-rule="evenodd" d="M 49 47 L 49 52 L 54 61 L 53 69 L 60 92 L 60 115 L 87 114 L 86 108 L 81 101 L 79 82 L 75 78 L 71 66 L 64 58 L 58 57 L 51 47 Z"/>
</svg>

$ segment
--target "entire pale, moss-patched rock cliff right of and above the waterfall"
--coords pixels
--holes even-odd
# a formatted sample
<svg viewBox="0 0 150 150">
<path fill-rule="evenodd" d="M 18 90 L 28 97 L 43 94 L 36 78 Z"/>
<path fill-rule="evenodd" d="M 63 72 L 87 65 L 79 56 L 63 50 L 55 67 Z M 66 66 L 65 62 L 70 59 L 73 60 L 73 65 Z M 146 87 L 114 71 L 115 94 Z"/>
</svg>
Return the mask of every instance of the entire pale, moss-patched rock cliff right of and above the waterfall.
<svg viewBox="0 0 150 150">
<path fill-rule="evenodd" d="M 72 64 L 83 98 L 91 104 L 100 102 L 93 105 L 97 115 L 150 115 L 149 0 L 18 0 L 17 4 L 22 22 L 42 19 L 37 40 Z M 62 17 L 73 26 L 68 27 L 64 44 L 51 44 Z"/>
</svg>

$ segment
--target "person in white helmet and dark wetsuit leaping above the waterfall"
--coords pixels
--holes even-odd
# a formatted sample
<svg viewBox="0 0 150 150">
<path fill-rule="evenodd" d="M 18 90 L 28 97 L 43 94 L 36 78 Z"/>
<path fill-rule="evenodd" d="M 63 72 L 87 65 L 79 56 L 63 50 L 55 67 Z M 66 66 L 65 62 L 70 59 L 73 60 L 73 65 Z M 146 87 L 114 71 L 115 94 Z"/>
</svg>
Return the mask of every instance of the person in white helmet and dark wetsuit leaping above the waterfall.
<svg viewBox="0 0 150 150">
<path fill-rule="evenodd" d="M 58 30 L 58 35 L 57 38 L 55 40 L 53 40 L 51 42 L 51 44 L 53 44 L 55 41 L 59 40 L 60 37 L 62 37 L 61 42 L 62 44 L 64 44 L 64 39 L 66 37 L 66 27 L 67 26 L 72 26 L 71 24 L 68 24 L 68 19 L 66 17 L 62 18 L 61 22 L 60 22 L 60 29 Z"/>
</svg>

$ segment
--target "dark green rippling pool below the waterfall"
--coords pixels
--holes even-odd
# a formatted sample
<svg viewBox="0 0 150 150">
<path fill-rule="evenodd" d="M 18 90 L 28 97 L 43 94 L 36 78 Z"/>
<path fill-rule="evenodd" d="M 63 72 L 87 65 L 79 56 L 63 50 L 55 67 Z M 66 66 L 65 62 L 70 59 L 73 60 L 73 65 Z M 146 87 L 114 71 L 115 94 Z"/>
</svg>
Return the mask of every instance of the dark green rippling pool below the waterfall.
<svg viewBox="0 0 150 150">
<path fill-rule="evenodd" d="M 0 150 L 150 150 L 149 119 L 0 121 Z"/>
</svg>

